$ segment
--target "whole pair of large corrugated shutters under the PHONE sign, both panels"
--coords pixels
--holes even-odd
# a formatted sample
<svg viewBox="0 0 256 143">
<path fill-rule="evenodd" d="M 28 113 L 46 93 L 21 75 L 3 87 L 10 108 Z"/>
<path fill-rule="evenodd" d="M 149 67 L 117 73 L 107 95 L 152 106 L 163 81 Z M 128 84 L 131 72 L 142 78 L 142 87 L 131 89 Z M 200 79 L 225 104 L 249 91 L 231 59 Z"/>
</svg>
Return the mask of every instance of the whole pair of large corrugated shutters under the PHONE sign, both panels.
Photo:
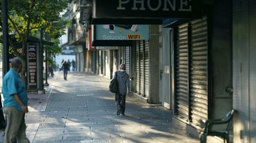
<svg viewBox="0 0 256 143">
<path fill-rule="evenodd" d="M 177 27 L 176 113 L 200 126 L 208 118 L 207 17 Z"/>
</svg>

